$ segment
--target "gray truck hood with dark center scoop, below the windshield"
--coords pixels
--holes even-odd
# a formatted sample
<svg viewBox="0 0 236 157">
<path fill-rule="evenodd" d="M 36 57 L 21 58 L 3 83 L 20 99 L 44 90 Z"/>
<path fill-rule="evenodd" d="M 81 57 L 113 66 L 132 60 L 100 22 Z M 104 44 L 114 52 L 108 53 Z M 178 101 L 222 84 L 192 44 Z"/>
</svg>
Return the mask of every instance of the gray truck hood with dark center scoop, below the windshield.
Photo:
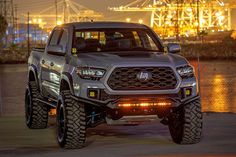
<svg viewBox="0 0 236 157">
<path fill-rule="evenodd" d="M 81 53 L 81 66 L 109 68 L 112 66 L 180 66 L 188 64 L 185 58 L 176 54 L 156 52 Z"/>
</svg>

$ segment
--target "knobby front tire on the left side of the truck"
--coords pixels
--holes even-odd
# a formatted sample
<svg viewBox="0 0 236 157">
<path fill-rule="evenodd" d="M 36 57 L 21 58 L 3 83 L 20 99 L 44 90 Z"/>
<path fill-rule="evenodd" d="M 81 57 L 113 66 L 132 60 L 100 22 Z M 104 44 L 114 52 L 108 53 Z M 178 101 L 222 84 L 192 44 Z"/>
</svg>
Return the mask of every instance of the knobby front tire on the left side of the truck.
<svg viewBox="0 0 236 157">
<path fill-rule="evenodd" d="M 82 148 L 86 140 L 85 106 L 74 100 L 69 90 L 62 91 L 60 97 L 57 105 L 58 143 L 65 149 Z"/>
</svg>

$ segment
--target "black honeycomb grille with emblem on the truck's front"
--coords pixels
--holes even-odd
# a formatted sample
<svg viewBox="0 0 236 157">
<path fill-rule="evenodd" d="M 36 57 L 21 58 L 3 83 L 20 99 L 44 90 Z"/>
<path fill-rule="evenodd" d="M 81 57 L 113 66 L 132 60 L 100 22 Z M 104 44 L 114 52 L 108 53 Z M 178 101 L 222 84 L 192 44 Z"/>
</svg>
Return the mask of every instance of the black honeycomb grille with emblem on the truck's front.
<svg viewBox="0 0 236 157">
<path fill-rule="evenodd" d="M 151 77 L 140 80 L 141 72 Z M 177 79 L 170 67 L 122 67 L 112 72 L 107 83 L 113 90 L 167 90 L 176 88 Z"/>
</svg>

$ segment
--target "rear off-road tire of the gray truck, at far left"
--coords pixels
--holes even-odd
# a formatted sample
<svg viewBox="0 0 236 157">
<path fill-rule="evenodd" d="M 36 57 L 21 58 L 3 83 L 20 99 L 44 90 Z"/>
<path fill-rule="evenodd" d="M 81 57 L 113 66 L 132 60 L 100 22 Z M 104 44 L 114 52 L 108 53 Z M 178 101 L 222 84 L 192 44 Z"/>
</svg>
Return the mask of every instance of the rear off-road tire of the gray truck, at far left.
<svg viewBox="0 0 236 157">
<path fill-rule="evenodd" d="M 40 93 L 36 82 L 28 84 L 25 94 L 25 118 L 26 125 L 30 129 L 45 129 L 48 124 L 48 108 L 37 99 Z"/>
</svg>

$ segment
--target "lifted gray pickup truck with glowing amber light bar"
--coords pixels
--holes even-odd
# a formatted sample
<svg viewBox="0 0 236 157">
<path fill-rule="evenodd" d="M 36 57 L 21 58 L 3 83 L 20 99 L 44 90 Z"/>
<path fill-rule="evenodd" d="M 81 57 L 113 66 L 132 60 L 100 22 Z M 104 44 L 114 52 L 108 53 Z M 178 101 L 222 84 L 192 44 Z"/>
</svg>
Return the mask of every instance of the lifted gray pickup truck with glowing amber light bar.
<svg viewBox="0 0 236 157">
<path fill-rule="evenodd" d="M 158 35 L 141 24 L 57 26 L 45 49 L 34 49 L 28 60 L 26 125 L 46 128 L 54 109 L 59 145 L 75 149 L 84 146 L 88 128 L 151 115 L 169 126 L 175 143 L 198 143 L 198 81 L 178 52 L 178 44 L 165 48 Z"/>
</svg>

